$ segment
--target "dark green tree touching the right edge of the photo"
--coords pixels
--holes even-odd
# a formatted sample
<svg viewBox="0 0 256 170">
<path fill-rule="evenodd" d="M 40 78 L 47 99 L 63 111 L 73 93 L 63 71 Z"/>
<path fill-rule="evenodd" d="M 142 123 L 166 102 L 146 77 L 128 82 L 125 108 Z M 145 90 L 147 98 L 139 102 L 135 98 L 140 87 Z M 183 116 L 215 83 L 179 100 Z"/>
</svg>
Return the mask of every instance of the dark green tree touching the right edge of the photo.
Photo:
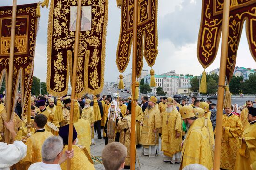
<svg viewBox="0 0 256 170">
<path fill-rule="evenodd" d="M 243 94 L 256 94 L 256 73 L 250 74 L 243 82 Z"/>
</svg>

